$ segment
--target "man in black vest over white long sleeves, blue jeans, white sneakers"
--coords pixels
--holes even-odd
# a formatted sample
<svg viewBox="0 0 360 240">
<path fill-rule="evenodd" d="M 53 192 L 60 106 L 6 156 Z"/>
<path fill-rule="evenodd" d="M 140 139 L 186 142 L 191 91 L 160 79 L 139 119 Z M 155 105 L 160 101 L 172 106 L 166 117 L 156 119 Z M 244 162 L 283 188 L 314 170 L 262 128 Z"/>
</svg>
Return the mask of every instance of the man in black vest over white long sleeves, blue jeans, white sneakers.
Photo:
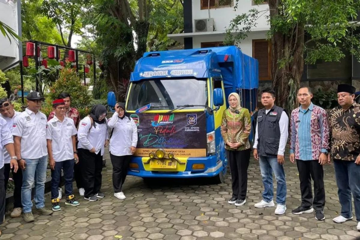
<svg viewBox="0 0 360 240">
<path fill-rule="evenodd" d="M 265 108 L 257 115 L 257 126 L 254 142 L 254 158 L 259 160 L 262 183 L 264 184 L 263 200 L 254 207 L 274 207 L 273 172 L 278 184 L 276 190 L 275 214 L 285 213 L 286 180 L 283 168 L 285 146 L 288 139 L 289 118 L 283 108 L 275 106 L 275 92 L 264 89 L 261 92 L 261 103 Z"/>
</svg>

